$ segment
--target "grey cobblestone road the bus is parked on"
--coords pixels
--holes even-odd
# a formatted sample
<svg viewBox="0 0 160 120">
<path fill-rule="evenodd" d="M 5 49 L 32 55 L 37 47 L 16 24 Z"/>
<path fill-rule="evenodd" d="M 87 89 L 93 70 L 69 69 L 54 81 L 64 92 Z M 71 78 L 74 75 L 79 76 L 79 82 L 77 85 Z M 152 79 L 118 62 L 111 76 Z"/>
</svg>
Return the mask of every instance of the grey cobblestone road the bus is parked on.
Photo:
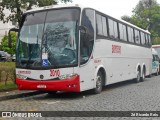
<svg viewBox="0 0 160 120">
<path fill-rule="evenodd" d="M 126 81 L 109 85 L 97 95 L 91 94 L 90 91 L 82 93 L 57 93 L 55 95 L 43 93 L 0 101 L 0 111 L 94 111 L 94 115 L 91 115 L 91 117 L 34 118 L 37 120 L 159 120 L 160 114 L 158 117 L 92 116 L 96 116 L 96 111 L 160 111 L 160 76 L 146 78 L 144 82 L 140 83 Z M 134 113 L 130 114 L 134 115 Z"/>
</svg>

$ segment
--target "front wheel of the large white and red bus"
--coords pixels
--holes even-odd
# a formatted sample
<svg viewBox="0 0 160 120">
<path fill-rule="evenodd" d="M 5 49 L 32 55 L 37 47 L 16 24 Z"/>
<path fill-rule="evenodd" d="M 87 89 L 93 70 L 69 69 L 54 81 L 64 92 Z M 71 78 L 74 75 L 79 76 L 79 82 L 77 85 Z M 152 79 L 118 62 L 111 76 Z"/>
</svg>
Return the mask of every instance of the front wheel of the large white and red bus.
<svg viewBox="0 0 160 120">
<path fill-rule="evenodd" d="M 96 78 L 96 88 L 93 89 L 94 94 L 99 94 L 102 91 L 103 87 L 103 76 L 102 73 L 99 71 Z"/>
</svg>

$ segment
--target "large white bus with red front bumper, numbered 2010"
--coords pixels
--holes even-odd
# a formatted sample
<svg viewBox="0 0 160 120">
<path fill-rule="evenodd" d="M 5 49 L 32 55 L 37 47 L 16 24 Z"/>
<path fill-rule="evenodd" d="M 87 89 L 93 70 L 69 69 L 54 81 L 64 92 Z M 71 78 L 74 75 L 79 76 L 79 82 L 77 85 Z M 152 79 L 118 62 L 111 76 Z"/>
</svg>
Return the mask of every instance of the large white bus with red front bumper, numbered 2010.
<svg viewBox="0 0 160 120">
<path fill-rule="evenodd" d="M 11 29 L 10 31 L 17 29 Z M 150 33 L 80 5 L 22 16 L 16 47 L 19 90 L 81 92 L 152 74 Z"/>
</svg>

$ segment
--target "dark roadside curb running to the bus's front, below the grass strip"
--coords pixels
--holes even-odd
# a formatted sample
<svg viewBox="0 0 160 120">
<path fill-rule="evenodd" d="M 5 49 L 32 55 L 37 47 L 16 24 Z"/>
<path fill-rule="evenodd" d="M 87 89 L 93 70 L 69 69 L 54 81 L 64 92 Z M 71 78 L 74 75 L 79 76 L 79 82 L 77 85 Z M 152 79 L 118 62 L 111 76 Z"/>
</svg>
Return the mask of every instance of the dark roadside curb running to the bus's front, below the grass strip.
<svg viewBox="0 0 160 120">
<path fill-rule="evenodd" d="M 42 94 L 42 93 L 44 93 L 44 92 L 30 91 L 30 92 L 24 92 L 24 93 L 12 94 L 12 95 L 5 95 L 5 96 L 0 96 L 0 101 L 28 97 L 28 96 L 38 95 L 38 94 Z"/>
</svg>

